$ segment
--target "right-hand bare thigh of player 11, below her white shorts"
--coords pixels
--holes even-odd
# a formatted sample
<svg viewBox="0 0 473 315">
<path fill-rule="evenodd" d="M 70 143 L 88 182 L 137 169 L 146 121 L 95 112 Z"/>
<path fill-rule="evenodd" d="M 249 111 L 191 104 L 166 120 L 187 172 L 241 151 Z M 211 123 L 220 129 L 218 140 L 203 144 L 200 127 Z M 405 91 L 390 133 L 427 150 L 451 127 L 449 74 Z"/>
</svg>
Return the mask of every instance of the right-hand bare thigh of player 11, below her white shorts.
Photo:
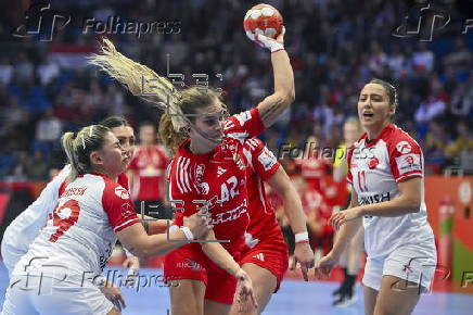
<svg viewBox="0 0 473 315">
<path fill-rule="evenodd" d="M 409 315 L 419 302 L 419 287 L 394 276 L 383 276 L 374 315 Z"/>
</svg>

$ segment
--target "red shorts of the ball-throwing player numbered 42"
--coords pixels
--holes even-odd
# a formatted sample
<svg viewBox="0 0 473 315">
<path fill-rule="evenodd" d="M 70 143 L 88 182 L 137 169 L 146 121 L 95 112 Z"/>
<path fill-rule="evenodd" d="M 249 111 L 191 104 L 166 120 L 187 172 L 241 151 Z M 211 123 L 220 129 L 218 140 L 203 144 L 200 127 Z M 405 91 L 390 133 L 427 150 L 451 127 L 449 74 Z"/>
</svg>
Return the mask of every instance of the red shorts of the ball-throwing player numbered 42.
<svg viewBox="0 0 473 315">
<path fill-rule="evenodd" d="M 206 286 L 204 299 L 233 304 L 237 279 L 202 253 L 186 249 L 170 252 L 164 260 L 164 278 L 203 281 Z"/>
</svg>

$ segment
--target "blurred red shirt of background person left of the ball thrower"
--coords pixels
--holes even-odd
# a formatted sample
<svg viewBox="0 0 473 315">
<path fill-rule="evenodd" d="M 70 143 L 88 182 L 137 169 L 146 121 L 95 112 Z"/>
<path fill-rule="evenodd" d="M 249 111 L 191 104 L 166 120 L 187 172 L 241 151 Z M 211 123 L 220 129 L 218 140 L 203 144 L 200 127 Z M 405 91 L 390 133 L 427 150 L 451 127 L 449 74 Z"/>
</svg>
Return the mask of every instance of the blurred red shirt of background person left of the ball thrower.
<svg viewBox="0 0 473 315">
<path fill-rule="evenodd" d="M 158 146 L 138 147 L 128 167 L 133 172 L 131 197 L 133 200 L 163 200 L 164 191 L 159 191 L 159 182 L 164 180 L 167 158 Z"/>
</svg>

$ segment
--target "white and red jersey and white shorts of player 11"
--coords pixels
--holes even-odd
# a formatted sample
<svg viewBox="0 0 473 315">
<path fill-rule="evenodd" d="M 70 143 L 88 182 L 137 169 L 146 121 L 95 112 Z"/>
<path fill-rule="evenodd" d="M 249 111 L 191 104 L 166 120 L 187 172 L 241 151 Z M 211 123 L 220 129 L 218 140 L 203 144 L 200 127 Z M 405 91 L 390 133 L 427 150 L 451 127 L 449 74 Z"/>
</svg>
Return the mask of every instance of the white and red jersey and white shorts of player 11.
<svg viewBox="0 0 473 315">
<path fill-rule="evenodd" d="M 396 217 L 363 217 L 368 254 L 363 282 L 375 290 L 380 289 L 381 275 L 402 279 L 409 276 L 409 281 L 421 279 L 423 287 L 430 287 L 436 250 L 424 203 L 423 164 L 419 144 L 394 124 L 370 142 L 365 134 L 348 152 L 347 180 L 360 205 L 393 200 L 399 196 L 399 182 L 422 178 L 419 212 Z"/>
</svg>

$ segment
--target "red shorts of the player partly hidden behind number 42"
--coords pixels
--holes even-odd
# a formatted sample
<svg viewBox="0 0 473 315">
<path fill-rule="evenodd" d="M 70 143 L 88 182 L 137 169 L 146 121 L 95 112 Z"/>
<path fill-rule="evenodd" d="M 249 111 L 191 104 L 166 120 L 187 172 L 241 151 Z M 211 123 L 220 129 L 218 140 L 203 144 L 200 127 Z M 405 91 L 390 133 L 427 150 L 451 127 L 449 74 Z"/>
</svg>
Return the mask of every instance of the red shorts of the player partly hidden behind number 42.
<svg viewBox="0 0 473 315">
<path fill-rule="evenodd" d="M 279 232 L 279 236 L 266 237 L 253 249 L 244 251 L 243 257 L 239 263 L 241 266 L 245 263 L 252 263 L 269 270 L 276 277 L 274 293 L 278 292 L 282 278 L 289 267 L 287 245 L 281 232 Z"/>
</svg>

